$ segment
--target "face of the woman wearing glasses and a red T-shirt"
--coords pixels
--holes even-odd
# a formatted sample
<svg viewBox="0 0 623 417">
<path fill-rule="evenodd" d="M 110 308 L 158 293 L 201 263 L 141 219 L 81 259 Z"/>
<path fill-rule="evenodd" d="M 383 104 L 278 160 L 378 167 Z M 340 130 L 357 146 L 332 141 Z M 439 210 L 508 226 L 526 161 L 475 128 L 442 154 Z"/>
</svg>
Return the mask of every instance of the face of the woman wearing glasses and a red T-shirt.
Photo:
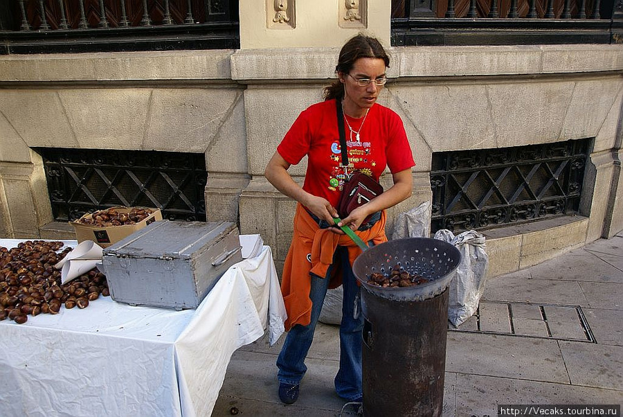
<svg viewBox="0 0 623 417">
<path fill-rule="evenodd" d="M 359 58 L 350 73 L 338 73 L 338 76 L 345 88 L 344 111 L 349 116 L 361 117 L 365 114 L 365 109 L 369 109 L 377 101 L 383 86 L 374 82 L 360 86 L 357 80 L 384 78 L 385 61 L 381 58 Z"/>
</svg>

